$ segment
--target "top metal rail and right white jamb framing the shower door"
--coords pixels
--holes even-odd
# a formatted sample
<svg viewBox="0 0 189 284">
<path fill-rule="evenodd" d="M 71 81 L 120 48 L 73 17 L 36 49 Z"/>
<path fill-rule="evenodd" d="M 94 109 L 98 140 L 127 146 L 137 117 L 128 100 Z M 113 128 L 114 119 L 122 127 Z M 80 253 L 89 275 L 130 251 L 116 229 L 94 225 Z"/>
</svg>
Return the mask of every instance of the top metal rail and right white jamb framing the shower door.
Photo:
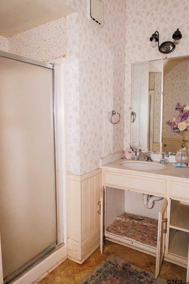
<svg viewBox="0 0 189 284">
<path fill-rule="evenodd" d="M 65 166 L 65 147 L 63 141 L 64 132 L 64 114 L 62 109 L 63 94 L 61 92 L 61 66 L 58 64 L 48 64 L 39 62 L 37 60 L 20 57 L 11 53 L 0 51 L 0 57 L 7 59 L 13 59 L 27 64 L 37 65 L 40 67 L 52 69 L 53 71 L 53 119 L 54 119 L 54 153 L 55 153 L 55 188 L 56 188 L 56 220 L 57 220 L 57 247 L 59 249 L 64 245 L 64 230 L 63 230 L 63 219 L 64 219 L 64 208 L 63 208 L 63 186 L 65 185 L 64 180 L 64 166 Z M 58 77 L 59 76 L 59 77 Z M 1 260 L 1 244 L 0 244 L 0 260 Z M 0 284 L 3 280 L 2 275 L 2 261 L 0 261 Z M 3 283 L 3 282 L 2 282 Z"/>
</svg>

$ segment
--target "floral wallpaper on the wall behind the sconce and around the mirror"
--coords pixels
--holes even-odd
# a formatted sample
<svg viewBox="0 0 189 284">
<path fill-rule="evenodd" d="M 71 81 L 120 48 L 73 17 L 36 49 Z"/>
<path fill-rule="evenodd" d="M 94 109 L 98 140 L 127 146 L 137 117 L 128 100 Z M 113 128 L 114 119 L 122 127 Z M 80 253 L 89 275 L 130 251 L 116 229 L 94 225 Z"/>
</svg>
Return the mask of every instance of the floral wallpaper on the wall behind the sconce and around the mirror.
<svg viewBox="0 0 189 284">
<path fill-rule="evenodd" d="M 155 59 L 188 55 L 189 5 L 187 0 L 126 0 L 126 66 L 125 66 L 125 135 L 124 145 L 130 141 L 131 64 Z M 170 54 L 162 54 L 150 46 L 149 38 L 156 30 L 159 41 L 172 41 L 175 30 L 183 38 Z"/>
</svg>

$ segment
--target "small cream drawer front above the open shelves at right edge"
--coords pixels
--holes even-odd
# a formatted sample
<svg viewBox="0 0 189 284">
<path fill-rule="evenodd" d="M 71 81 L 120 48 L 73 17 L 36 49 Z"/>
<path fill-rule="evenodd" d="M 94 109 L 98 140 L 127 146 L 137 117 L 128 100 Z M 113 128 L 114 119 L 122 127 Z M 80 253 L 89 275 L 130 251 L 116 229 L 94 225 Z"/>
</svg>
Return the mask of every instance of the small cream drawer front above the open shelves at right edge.
<svg viewBox="0 0 189 284">
<path fill-rule="evenodd" d="M 189 183 L 170 181 L 170 197 L 189 199 Z"/>
</svg>

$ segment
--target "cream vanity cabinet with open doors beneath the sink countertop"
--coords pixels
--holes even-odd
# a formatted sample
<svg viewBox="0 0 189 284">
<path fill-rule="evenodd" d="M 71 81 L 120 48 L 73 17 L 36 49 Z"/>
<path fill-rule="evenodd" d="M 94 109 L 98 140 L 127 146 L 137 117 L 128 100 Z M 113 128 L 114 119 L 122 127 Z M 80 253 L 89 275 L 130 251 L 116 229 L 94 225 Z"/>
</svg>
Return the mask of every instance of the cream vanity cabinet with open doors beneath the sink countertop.
<svg viewBox="0 0 189 284">
<path fill-rule="evenodd" d="M 167 175 L 153 175 L 151 172 L 148 174 L 144 171 L 124 171 L 120 167 L 102 167 L 102 185 L 105 188 L 105 238 L 156 256 L 157 277 L 163 259 L 183 267 L 188 265 L 189 174 L 187 180 L 187 178 L 171 178 Z M 132 194 L 128 194 L 129 192 Z M 136 214 L 147 216 L 143 213 L 144 205 L 137 205 L 137 202 L 133 200 L 133 196 L 138 194 L 141 198 L 143 193 L 164 198 L 161 202 L 155 201 L 154 208 L 158 207 L 156 211 L 159 209 L 159 212 L 152 213 L 153 209 L 147 209 L 152 215 L 155 214 L 152 218 L 158 219 L 157 247 L 106 230 L 116 216 L 126 211 L 126 202 L 132 202 L 133 214 L 136 211 Z M 129 195 L 132 196 L 131 201 Z M 149 217 L 151 213 L 148 213 Z M 187 272 L 186 282 L 188 281 Z"/>
</svg>

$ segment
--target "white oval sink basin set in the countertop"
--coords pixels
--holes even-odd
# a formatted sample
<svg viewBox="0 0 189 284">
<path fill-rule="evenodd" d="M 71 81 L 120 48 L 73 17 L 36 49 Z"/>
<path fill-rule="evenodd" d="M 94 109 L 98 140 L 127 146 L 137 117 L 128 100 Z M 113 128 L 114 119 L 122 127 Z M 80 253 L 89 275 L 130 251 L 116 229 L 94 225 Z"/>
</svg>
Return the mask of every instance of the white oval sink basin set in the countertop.
<svg viewBox="0 0 189 284">
<path fill-rule="evenodd" d="M 165 166 L 162 164 L 146 161 L 128 161 L 120 165 L 135 170 L 163 170 L 165 168 Z"/>
</svg>

